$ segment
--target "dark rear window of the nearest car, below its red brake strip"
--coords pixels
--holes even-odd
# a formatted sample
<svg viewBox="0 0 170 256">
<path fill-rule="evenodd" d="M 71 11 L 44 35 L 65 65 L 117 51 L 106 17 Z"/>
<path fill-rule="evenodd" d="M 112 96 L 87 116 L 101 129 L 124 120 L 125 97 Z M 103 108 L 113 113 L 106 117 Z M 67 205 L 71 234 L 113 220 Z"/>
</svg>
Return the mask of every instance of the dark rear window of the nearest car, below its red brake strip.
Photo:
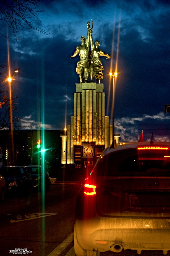
<svg viewBox="0 0 170 256">
<path fill-rule="evenodd" d="M 170 158 L 165 152 L 139 153 L 123 150 L 103 157 L 96 165 L 98 176 L 170 176 Z"/>
</svg>

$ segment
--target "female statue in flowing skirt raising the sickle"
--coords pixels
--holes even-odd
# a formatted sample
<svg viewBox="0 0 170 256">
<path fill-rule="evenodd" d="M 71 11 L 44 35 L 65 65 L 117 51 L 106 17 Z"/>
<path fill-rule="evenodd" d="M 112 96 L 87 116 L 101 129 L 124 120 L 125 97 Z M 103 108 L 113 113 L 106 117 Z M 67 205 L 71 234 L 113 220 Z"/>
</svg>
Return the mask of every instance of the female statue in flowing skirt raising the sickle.
<svg viewBox="0 0 170 256">
<path fill-rule="evenodd" d="M 90 63 L 90 80 L 93 82 L 93 77 L 96 78 L 96 81 L 98 84 L 100 84 L 100 80 L 103 79 L 103 66 L 100 61 L 100 56 L 105 56 L 106 59 L 110 59 L 111 56 L 105 52 L 103 52 L 101 49 L 98 48 L 100 46 L 99 41 L 95 41 L 95 44 L 93 43 L 92 38 L 92 29 L 90 32 L 90 45 L 91 45 L 91 53 L 92 53 L 92 59 Z"/>
</svg>

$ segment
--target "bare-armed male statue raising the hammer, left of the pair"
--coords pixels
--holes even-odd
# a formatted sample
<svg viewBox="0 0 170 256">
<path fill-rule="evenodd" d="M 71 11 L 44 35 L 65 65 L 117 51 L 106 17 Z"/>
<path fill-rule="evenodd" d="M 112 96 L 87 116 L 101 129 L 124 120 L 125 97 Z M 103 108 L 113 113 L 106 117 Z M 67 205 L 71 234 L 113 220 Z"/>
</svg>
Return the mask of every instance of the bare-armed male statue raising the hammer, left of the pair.
<svg viewBox="0 0 170 256">
<path fill-rule="evenodd" d="M 87 38 L 85 38 L 85 36 L 81 36 L 81 45 L 77 46 L 76 51 L 70 57 L 75 57 L 78 54 L 80 56 L 80 60 L 77 62 L 76 68 L 76 72 L 77 74 L 79 74 L 80 77 L 80 83 L 87 82 L 89 77 L 89 65 L 91 58 L 91 52 L 89 51 L 89 31 L 90 26 L 89 24 L 87 24 Z"/>
</svg>

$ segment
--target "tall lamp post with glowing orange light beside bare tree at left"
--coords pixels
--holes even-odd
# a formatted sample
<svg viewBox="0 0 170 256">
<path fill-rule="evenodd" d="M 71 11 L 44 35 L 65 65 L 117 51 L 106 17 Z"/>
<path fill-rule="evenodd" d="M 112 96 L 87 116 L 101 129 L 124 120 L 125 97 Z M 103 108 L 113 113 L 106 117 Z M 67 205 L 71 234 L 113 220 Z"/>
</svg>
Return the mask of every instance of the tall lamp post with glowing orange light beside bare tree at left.
<svg viewBox="0 0 170 256">
<path fill-rule="evenodd" d="M 18 69 L 15 69 L 12 76 L 8 77 L 9 82 L 9 92 L 10 92 L 10 115 L 9 115 L 9 165 L 15 164 L 15 154 L 14 154 L 14 137 L 13 137 L 13 121 L 12 121 L 12 102 L 13 102 L 13 91 L 12 91 L 12 77 L 18 73 Z"/>
</svg>

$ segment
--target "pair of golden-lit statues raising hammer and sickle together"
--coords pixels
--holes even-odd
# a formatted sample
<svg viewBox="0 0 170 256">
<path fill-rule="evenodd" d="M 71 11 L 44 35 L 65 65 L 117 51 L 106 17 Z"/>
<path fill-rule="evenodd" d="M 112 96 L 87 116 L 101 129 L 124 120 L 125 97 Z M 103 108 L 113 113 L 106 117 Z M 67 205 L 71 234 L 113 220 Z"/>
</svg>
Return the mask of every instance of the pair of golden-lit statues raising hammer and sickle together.
<svg viewBox="0 0 170 256">
<path fill-rule="evenodd" d="M 77 62 L 76 72 L 79 74 L 80 83 L 88 82 L 88 78 L 90 77 L 91 82 L 93 82 L 93 78 L 95 78 L 96 82 L 100 84 L 100 80 L 103 79 L 102 71 L 104 69 L 100 56 L 105 56 L 106 59 L 110 59 L 111 56 L 98 48 L 100 46 L 99 41 L 93 43 L 92 28 L 90 28 L 90 22 L 87 22 L 87 38 L 81 36 L 81 45 L 77 46 L 76 51 L 70 58 L 79 54 L 80 60 Z M 89 50 L 89 41 L 91 51 Z"/>
</svg>

